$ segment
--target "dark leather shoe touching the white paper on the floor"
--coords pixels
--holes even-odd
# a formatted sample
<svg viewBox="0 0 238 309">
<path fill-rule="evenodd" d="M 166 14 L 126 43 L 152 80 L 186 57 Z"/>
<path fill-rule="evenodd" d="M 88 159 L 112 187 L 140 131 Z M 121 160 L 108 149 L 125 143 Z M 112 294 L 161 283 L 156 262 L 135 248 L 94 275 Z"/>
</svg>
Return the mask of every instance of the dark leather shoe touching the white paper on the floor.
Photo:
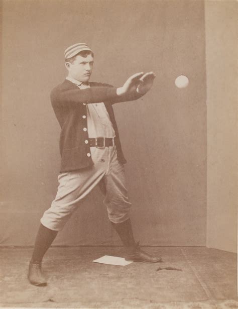
<svg viewBox="0 0 238 309">
<path fill-rule="evenodd" d="M 162 262 L 162 258 L 156 257 L 154 255 L 146 253 L 145 251 L 142 251 L 139 246 L 139 243 L 137 243 L 135 246 L 126 248 L 125 260 L 133 262 L 143 262 L 143 263 Z"/>
</svg>

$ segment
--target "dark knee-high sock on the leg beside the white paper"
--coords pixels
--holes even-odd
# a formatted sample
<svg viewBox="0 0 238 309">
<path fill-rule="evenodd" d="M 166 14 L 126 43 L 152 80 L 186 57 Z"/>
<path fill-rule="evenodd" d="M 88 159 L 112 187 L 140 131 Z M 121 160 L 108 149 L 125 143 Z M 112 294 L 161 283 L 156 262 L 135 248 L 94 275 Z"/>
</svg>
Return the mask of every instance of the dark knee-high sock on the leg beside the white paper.
<svg viewBox="0 0 238 309">
<path fill-rule="evenodd" d="M 123 223 L 113 223 L 111 222 L 112 227 L 115 229 L 121 241 L 125 247 L 135 246 L 135 239 L 132 231 L 131 220 L 128 219 Z"/>
</svg>

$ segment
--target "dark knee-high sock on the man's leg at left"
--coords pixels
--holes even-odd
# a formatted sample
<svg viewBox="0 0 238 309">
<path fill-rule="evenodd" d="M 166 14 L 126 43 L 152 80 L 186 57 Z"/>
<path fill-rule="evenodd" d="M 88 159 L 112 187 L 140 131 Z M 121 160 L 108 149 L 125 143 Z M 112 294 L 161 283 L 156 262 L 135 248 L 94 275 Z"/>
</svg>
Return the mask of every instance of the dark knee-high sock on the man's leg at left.
<svg viewBox="0 0 238 309">
<path fill-rule="evenodd" d="M 57 231 L 50 230 L 44 227 L 42 224 L 40 225 L 32 254 L 32 263 L 41 263 L 43 256 L 52 244 L 57 233 Z"/>
</svg>

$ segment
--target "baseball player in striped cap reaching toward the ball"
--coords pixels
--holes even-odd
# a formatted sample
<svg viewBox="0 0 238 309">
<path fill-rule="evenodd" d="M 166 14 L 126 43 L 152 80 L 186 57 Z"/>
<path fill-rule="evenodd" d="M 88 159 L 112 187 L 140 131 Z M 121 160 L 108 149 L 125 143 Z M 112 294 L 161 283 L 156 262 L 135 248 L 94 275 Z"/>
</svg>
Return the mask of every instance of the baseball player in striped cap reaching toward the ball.
<svg viewBox="0 0 238 309">
<path fill-rule="evenodd" d="M 97 184 L 104 193 L 108 218 L 125 246 L 128 261 L 160 262 L 142 251 L 133 237 L 129 218 L 131 203 L 125 186 L 124 158 L 112 110 L 115 102 L 140 98 L 151 86 L 155 74 L 136 73 L 122 87 L 90 82 L 93 52 L 85 43 L 65 50 L 66 80 L 51 92 L 51 103 L 61 126 L 59 187 L 51 207 L 41 218 L 29 281 L 47 284 L 41 272 L 44 254 L 62 230 L 80 200 Z"/>
</svg>

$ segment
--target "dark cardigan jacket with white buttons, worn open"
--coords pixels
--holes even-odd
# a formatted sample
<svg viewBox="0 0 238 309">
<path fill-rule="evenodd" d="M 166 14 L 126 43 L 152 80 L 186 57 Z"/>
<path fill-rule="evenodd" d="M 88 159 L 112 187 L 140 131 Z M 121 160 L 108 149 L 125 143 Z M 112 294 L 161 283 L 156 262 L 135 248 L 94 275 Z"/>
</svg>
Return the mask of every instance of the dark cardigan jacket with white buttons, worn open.
<svg viewBox="0 0 238 309">
<path fill-rule="evenodd" d="M 116 88 L 102 83 L 90 82 L 90 88 L 79 89 L 74 83 L 65 80 L 51 91 L 51 104 L 56 118 L 61 127 L 60 134 L 60 172 L 72 171 L 93 165 L 89 144 L 85 144 L 88 139 L 86 104 L 104 102 L 109 114 L 110 121 L 115 131 L 115 146 L 117 158 L 121 163 L 126 163 L 122 152 L 121 142 L 112 104 L 116 102 L 135 100 L 141 94 L 130 93 L 130 95 L 118 96 Z"/>
</svg>

